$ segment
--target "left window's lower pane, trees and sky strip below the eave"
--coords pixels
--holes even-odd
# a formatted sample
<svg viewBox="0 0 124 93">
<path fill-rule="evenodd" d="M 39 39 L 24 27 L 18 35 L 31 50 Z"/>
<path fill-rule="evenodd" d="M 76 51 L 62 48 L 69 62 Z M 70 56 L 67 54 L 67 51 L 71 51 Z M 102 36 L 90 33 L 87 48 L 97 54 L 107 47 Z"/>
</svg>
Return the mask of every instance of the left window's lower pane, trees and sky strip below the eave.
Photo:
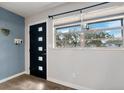
<svg viewBox="0 0 124 93">
<path fill-rule="evenodd" d="M 71 26 L 56 29 L 56 47 L 79 47 L 80 46 L 80 26 Z"/>
</svg>

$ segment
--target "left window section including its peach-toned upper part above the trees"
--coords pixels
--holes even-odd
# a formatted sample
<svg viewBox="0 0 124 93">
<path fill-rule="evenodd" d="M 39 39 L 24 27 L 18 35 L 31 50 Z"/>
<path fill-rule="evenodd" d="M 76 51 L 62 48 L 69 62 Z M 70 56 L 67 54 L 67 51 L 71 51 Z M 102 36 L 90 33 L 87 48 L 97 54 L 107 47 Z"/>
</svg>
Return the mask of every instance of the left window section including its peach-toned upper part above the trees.
<svg viewBox="0 0 124 93">
<path fill-rule="evenodd" d="M 57 48 L 80 47 L 80 16 L 60 18 L 54 22 L 55 46 Z"/>
</svg>

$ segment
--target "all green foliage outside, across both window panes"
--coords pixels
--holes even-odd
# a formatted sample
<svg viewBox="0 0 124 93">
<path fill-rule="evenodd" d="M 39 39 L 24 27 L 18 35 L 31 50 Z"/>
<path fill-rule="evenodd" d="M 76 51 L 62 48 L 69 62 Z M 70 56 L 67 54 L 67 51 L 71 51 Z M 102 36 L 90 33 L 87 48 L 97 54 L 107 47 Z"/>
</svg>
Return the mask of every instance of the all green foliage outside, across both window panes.
<svg viewBox="0 0 124 93">
<path fill-rule="evenodd" d="M 56 47 L 80 47 L 81 36 L 79 31 L 69 31 L 67 33 L 55 32 Z M 106 32 L 86 32 L 84 33 L 85 47 L 120 47 L 122 40 L 115 39 L 114 36 Z"/>
</svg>

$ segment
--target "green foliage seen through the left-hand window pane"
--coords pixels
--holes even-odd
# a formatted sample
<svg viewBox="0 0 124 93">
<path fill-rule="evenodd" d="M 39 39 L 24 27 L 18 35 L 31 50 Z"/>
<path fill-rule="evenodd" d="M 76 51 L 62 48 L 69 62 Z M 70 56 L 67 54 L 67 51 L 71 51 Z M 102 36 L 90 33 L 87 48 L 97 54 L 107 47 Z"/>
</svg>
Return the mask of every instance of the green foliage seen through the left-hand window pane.
<svg viewBox="0 0 124 93">
<path fill-rule="evenodd" d="M 61 33 L 56 31 L 56 47 L 78 47 L 80 46 L 80 33 L 69 31 Z"/>
</svg>

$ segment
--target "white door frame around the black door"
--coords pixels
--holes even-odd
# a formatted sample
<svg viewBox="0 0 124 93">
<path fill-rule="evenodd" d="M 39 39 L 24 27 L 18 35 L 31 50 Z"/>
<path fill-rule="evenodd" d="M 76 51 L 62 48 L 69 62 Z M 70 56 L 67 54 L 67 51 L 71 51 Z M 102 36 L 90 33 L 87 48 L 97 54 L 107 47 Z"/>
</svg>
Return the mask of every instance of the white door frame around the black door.
<svg viewBox="0 0 124 93">
<path fill-rule="evenodd" d="M 46 77 L 48 77 L 48 19 L 45 19 L 45 20 L 40 20 L 40 21 L 36 21 L 36 22 L 32 22 L 32 23 L 30 23 L 30 24 L 28 24 L 28 36 L 26 36 L 27 34 L 25 34 L 25 37 L 28 37 L 28 46 L 25 46 L 26 48 L 28 48 L 27 50 L 28 50 L 28 53 L 27 53 L 27 56 L 28 56 L 28 62 L 26 62 L 25 61 L 25 69 L 26 69 L 26 72 L 27 72 L 27 74 L 30 74 L 30 26 L 32 26 L 32 25 L 35 25 L 35 24 L 40 24 L 40 23 L 44 23 L 44 22 L 46 22 L 46 29 L 47 29 L 47 31 L 46 31 L 46 44 L 47 44 L 47 46 L 46 46 L 46 49 L 47 49 L 47 51 L 46 51 L 46 69 L 47 69 L 47 74 L 46 74 Z M 26 48 L 25 48 L 25 50 L 26 50 Z M 26 53 L 25 53 L 25 55 L 26 55 Z M 26 57 L 27 57 L 26 56 Z"/>
</svg>

